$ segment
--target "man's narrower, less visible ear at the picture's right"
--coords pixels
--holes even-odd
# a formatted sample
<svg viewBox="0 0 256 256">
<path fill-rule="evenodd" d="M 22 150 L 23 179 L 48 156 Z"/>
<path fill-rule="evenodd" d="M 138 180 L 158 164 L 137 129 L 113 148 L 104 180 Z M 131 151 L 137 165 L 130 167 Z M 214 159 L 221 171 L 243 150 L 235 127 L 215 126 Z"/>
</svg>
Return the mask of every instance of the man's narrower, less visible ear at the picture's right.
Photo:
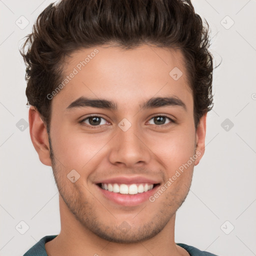
<svg viewBox="0 0 256 256">
<path fill-rule="evenodd" d="M 198 156 L 194 161 L 194 165 L 197 165 L 204 154 L 205 149 L 205 134 L 206 134 L 206 114 L 205 113 L 199 120 L 196 133 L 195 133 L 195 141 L 196 141 L 196 155 Z"/>
</svg>

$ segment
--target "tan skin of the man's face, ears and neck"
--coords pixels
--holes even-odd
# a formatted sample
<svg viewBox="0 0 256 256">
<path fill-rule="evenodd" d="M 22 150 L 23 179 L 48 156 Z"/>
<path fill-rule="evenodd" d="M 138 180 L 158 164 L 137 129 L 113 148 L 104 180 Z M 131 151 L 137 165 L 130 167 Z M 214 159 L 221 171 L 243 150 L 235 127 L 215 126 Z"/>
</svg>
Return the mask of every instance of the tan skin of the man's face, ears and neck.
<svg viewBox="0 0 256 256">
<path fill-rule="evenodd" d="M 74 52 L 64 63 L 64 74 L 84 56 L 99 52 L 52 99 L 50 133 L 36 109 L 29 109 L 32 143 L 40 161 L 52 166 L 59 190 L 61 231 L 45 244 L 48 255 L 189 255 L 175 244 L 175 212 L 184 201 L 194 165 L 204 153 L 206 114 L 197 129 L 193 119 L 192 92 L 180 51 L 142 44 L 123 50 L 114 45 Z M 183 75 L 174 80 L 169 72 L 178 67 Z M 139 104 L 156 96 L 181 99 L 180 106 L 141 110 Z M 66 107 L 80 96 L 112 100 L 118 110 Z M 89 128 L 79 120 L 100 114 L 100 126 Z M 160 128 L 153 118 L 166 115 Z M 131 127 L 118 123 L 126 118 Z M 87 124 L 87 126 L 86 126 Z M 90 125 L 92 126 L 92 125 Z M 50 138 L 50 144 L 49 144 Z M 50 155 L 50 147 L 52 154 Z M 200 155 L 154 202 L 118 205 L 99 192 L 95 181 L 115 176 L 142 175 L 163 185 L 195 152 Z M 75 169 L 80 178 L 66 177 Z M 119 225 L 130 227 L 123 232 Z"/>
</svg>

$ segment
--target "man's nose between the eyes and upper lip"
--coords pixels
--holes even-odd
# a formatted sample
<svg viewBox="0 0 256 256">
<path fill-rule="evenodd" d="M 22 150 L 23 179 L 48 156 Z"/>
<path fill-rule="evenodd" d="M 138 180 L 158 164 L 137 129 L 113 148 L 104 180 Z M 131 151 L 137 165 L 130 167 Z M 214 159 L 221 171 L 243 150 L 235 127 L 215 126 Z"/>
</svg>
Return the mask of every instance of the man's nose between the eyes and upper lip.
<svg viewBox="0 0 256 256">
<path fill-rule="evenodd" d="M 144 136 L 136 129 L 135 124 L 126 131 L 117 127 L 117 133 L 111 141 L 109 161 L 126 167 L 148 163 L 151 151 L 144 140 Z"/>
</svg>

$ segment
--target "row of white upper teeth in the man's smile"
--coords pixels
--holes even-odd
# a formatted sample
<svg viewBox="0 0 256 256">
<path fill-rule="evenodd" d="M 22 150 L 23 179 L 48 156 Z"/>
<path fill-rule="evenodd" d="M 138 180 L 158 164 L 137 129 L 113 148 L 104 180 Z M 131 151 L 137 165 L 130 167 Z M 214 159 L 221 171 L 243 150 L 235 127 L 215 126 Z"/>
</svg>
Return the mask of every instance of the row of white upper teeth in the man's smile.
<svg viewBox="0 0 256 256">
<path fill-rule="evenodd" d="M 153 184 L 148 183 L 141 183 L 141 184 L 120 184 L 117 183 L 110 184 L 110 183 L 101 183 L 101 188 L 108 190 L 114 193 L 121 193 L 121 194 L 137 194 L 146 192 L 153 188 Z"/>
</svg>

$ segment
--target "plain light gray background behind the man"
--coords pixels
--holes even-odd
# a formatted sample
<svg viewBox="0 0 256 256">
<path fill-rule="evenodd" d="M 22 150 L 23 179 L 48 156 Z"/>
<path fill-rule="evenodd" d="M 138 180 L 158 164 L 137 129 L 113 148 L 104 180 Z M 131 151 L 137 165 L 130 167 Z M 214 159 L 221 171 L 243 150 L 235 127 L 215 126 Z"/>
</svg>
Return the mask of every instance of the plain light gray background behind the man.
<svg viewBox="0 0 256 256">
<path fill-rule="evenodd" d="M 25 67 L 18 52 L 50 2 L 0 0 L 0 255 L 22 255 L 60 231 L 52 170 L 39 161 L 25 125 Z M 214 70 L 205 154 L 177 211 L 175 241 L 218 255 L 256 255 L 256 1 L 192 3 L 210 25 L 214 65 L 222 63 Z"/>
</svg>

